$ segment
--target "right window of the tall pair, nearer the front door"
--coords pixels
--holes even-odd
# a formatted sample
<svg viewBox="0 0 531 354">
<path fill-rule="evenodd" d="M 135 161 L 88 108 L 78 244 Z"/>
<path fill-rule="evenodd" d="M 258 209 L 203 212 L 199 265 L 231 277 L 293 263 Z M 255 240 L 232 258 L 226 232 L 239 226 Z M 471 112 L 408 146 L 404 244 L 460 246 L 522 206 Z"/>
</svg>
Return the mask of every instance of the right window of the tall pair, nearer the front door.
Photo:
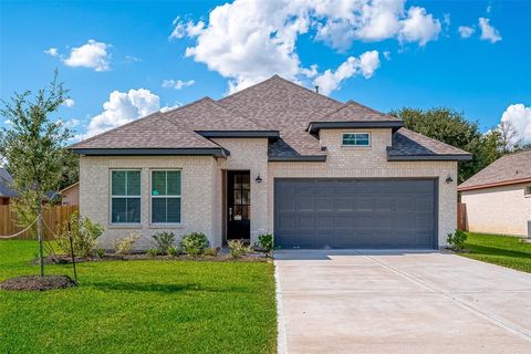
<svg viewBox="0 0 531 354">
<path fill-rule="evenodd" d="M 152 222 L 180 222 L 180 170 L 152 171 Z"/>
</svg>

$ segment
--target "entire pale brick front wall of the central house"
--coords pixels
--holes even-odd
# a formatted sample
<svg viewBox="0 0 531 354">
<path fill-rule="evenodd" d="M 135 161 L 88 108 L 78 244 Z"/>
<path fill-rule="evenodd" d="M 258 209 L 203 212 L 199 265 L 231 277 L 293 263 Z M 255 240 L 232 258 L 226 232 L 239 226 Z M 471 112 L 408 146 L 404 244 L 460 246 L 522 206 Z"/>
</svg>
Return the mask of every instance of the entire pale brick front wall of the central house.
<svg viewBox="0 0 531 354">
<path fill-rule="evenodd" d="M 434 177 L 439 178 L 439 244 L 446 244 L 446 235 L 456 228 L 455 162 L 388 163 L 386 147 L 391 145 L 391 129 L 363 129 L 372 133 L 368 148 L 342 147 L 341 133 L 351 131 L 321 131 L 321 144 L 327 147 L 326 163 L 269 163 L 266 138 L 218 138 L 216 143 L 230 150 L 227 159 L 212 157 L 82 157 L 81 212 L 106 228 L 102 247 L 112 247 L 133 229 L 142 232 L 138 248 L 153 247 L 150 235 L 158 230 L 149 225 L 150 168 L 183 169 L 183 222 L 171 228 L 178 237 L 191 231 L 205 232 L 214 246 L 222 242 L 221 169 L 242 169 L 251 173 L 251 241 L 258 235 L 273 231 L 273 180 L 278 177 Z M 112 168 L 142 168 L 142 225 L 136 228 L 110 225 L 110 170 Z M 254 181 L 260 175 L 262 183 Z M 447 176 L 454 183 L 446 184 Z"/>
</svg>

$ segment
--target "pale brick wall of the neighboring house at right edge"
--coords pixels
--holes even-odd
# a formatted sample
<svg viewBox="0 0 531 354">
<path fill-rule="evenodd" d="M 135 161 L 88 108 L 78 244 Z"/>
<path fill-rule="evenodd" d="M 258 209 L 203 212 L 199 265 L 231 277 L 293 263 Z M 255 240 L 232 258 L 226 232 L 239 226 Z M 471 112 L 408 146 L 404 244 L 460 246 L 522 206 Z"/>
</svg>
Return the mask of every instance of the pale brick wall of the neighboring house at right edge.
<svg viewBox="0 0 531 354">
<path fill-rule="evenodd" d="M 529 184 L 461 191 L 471 232 L 528 236 L 531 197 L 524 196 Z"/>
</svg>

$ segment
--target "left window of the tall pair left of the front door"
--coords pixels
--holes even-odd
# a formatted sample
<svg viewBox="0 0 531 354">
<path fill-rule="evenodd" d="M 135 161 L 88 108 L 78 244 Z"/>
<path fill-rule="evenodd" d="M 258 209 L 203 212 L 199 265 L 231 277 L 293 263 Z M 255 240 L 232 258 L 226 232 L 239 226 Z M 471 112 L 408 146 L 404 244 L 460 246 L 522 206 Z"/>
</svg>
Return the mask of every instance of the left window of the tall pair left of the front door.
<svg viewBox="0 0 531 354">
<path fill-rule="evenodd" d="M 111 173 L 111 222 L 140 222 L 140 171 Z"/>
</svg>

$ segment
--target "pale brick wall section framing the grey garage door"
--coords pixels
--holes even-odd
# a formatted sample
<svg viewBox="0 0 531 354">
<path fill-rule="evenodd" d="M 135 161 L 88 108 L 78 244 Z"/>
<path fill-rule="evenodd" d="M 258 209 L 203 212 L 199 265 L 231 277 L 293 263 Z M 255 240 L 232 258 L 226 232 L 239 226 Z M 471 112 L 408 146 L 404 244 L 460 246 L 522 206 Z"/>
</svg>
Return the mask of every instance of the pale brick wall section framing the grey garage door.
<svg viewBox="0 0 531 354">
<path fill-rule="evenodd" d="M 342 147 L 341 134 L 371 132 L 371 147 Z M 456 162 L 387 162 L 386 147 L 391 145 L 391 129 L 323 129 L 321 145 L 326 146 L 326 163 L 271 163 L 269 178 L 278 177 L 434 177 L 439 178 L 439 246 L 447 244 L 449 232 L 457 225 L 457 163 Z M 450 176 L 454 181 L 445 180 Z M 273 229 L 273 185 L 269 186 L 269 229 Z"/>
</svg>

